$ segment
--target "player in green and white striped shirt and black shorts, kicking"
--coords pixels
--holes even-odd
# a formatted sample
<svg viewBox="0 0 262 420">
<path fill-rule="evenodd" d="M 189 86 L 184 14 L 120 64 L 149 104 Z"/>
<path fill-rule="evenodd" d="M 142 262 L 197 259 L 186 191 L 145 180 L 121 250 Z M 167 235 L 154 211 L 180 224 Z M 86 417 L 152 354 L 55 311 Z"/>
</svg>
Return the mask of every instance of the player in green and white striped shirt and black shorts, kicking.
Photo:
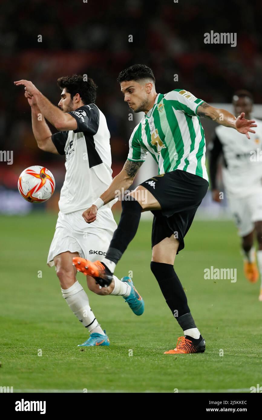
<svg viewBox="0 0 262 420">
<path fill-rule="evenodd" d="M 128 189 L 135 174 L 150 153 L 159 173 L 140 184 L 122 199 L 122 214 L 106 257 L 100 262 L 74 258 L 79 271 L 95 278 L 100 287 L 111 286 L 116 263 L 138 229 L 142 211 L 153 215 L 151 270 L 166 302 L 183 329 L 174 350 L 166 354 L 205 351 L 201 336 L 188 307 L 182 284 L 174 270 L 175 256 L 184 248 L 184 237 L 208 189 L 205 167 L 205 136 L 200 116 L 236 129 L 249 138 L 255 121 L 244 113 L 236 118 L 228 111 L 213 108 L 184 89 L 158 94 L 151 68 L 134 65 L 119 74 L 124 100 L 134 112 L 143 111 L 132 132 L 129 154 L 122 171 L 109 188 L 83 213 L 87 223 L 95 223 L 98 209 Z M 131 279 L 130 279 L 131 281 Z M 98 285 L 96 287 L 99 287 Z M 139 301 L 139 294 L 136 296 Z"/>
</svg>

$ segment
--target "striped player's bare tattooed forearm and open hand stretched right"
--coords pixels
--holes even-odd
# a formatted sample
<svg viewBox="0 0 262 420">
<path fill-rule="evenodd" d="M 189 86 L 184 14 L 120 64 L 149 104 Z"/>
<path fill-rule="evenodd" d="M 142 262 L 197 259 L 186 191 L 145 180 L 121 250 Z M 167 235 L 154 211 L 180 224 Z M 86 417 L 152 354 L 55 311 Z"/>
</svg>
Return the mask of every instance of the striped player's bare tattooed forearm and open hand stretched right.
<svg viewBox="0 0 262 420">
<path fill-rule="evenodd" d="M 249 133 L 255 133 L 251 127 L 257 127 L 254 120 L 246 120 L 244 118 L 245 113 L 243 112 L 236 118 L 235 115 L 225 109 L 214 108 L 206 102 L 203 102 L 198 106 L 196 113 L 200 117 L 210 118 L 222 126 L 236 129 L 239 133 L 246 134 L 248 139 L 250 139 Z"/>
</svg>

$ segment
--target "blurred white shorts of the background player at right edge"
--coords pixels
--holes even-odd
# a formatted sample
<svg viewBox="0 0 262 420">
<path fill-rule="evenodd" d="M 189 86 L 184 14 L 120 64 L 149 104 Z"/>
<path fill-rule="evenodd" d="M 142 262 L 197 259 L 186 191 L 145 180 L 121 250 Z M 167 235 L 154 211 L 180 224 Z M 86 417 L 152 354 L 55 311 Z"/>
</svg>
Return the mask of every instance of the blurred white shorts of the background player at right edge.
<svg viewBox="0 0 262 420">
<path fill-rule="evenodd" d="M 238 198 L 228 194 L 228 203 L 239 236 L 246 236 L 254 230 L 254 222 L 262 220 L 262 187 L 258 186 L 251 195 Z"/>
</svg>

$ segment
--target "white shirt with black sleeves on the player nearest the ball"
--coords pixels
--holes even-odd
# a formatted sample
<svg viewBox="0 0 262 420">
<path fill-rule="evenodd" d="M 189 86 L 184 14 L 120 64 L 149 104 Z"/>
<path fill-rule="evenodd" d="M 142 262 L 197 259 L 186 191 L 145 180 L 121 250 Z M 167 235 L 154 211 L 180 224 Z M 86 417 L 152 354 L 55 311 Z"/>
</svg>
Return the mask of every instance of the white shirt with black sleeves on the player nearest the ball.
<svg viewBox="0 0 262 420">
<path fill-rule="evenodd" d="M 112 181 L 110 133 L 106 118 L 95 104 L 69 112 L 77 129 L 59 131 L 52 141 L 60 155 L 66 155 L 66 176 L 58 202 L 61 213 L 85 210 Z M 103 208 L 111 208 L 112 200 Z"/>
</svg>

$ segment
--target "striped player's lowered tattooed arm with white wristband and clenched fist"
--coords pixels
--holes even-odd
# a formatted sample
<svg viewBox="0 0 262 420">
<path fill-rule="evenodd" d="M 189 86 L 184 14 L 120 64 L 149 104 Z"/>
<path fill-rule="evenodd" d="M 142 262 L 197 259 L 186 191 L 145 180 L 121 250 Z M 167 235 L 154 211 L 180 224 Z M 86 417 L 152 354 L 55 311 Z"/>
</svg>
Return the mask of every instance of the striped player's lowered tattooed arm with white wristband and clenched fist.
<svg viewBox="0 0 262 420">
<path fill-rule="evenodd" d="M 124 191 L 132 185 L 138 169 L 143 162 L 134 162 L 128 160 L 125 162 L 123 169 L 115 176 L 108 189 L 96 200 L 96 203 L 89 207 L 82 214 L 87 223 L 92 223 L 96 220 L 96 213 L 103 205 L 109 203 L 114 198 L 119 196 L 119 191 Z"/>
</svg>

